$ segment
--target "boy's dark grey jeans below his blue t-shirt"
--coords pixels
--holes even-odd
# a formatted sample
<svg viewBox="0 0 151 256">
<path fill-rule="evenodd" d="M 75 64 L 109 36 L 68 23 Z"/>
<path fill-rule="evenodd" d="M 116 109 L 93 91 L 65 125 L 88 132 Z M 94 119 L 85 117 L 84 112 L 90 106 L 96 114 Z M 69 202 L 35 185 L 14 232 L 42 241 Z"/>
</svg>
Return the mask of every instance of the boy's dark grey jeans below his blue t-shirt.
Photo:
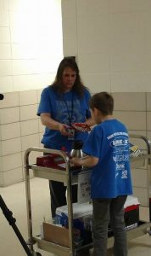
<svg viewBox="0 0 151 256">
<path fill-rule="evenodd" d="M 113 199 L 94 199 L 92 201 L 92 233 L 94 256 L 105 256 L 107 253 L 109 220 L 114 231 L 114 255 L 127 255 L 126 228 L 124 221 L 124 204 L 126 196 Z"/>
</svg>

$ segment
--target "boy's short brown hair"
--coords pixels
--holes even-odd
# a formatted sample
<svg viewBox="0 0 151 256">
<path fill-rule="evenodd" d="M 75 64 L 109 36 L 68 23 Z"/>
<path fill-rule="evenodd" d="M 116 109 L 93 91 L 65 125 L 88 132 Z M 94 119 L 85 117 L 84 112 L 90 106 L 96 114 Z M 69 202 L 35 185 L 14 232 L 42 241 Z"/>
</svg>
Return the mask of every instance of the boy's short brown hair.
<svg viewBox="0 0 151 256">
<path fill-rule="evenodd" d="M 91 109 L 97 108 L 103 115 L 112 114 L 114 110 L 114 98 L 106 91 L 94 94 L 89 104 Z"/>
</svg>

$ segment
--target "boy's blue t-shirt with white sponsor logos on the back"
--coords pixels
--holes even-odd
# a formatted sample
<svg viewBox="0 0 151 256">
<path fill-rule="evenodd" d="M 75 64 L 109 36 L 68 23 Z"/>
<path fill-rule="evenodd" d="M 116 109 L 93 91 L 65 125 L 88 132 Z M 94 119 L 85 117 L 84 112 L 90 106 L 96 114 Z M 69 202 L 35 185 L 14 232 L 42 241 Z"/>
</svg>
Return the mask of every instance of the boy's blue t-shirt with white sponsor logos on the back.
<svg viewBox="0 0 151 256">
<path fill-rule="evenodd" d="M 129 137 L 125 125 L 116 119 L 96 125 L 82 150 L 99 159 L 92 167 L 92 199 L 132 194 Z"/>
</svg>

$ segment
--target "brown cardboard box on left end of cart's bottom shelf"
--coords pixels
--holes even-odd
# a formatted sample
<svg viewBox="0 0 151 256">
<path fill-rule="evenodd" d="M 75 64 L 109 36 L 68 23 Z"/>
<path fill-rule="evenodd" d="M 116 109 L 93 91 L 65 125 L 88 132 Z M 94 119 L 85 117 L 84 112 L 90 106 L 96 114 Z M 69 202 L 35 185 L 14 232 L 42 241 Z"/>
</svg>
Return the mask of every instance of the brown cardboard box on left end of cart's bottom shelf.
<svg viewBox="0 0 151 256">
<path fill-rule="evenodd" d="M 69 230 L 47 222 L 43 223 L 43 237 L 64 247 L 70 247 Z"/>
</svg>

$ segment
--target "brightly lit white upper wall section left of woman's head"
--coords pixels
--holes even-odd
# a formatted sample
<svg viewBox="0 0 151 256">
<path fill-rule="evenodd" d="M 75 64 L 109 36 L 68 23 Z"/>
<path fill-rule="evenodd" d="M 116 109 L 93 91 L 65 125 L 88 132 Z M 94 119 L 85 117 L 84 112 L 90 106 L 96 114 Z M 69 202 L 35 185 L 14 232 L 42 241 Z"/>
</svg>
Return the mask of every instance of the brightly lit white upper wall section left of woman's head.
<svg viewBox="0 0 151 256">
<path fill-rule="evenodd" d="M 62 40 L 61 0 L 0 0 L 0 92 L 50 84 Z"/>
</svg>

